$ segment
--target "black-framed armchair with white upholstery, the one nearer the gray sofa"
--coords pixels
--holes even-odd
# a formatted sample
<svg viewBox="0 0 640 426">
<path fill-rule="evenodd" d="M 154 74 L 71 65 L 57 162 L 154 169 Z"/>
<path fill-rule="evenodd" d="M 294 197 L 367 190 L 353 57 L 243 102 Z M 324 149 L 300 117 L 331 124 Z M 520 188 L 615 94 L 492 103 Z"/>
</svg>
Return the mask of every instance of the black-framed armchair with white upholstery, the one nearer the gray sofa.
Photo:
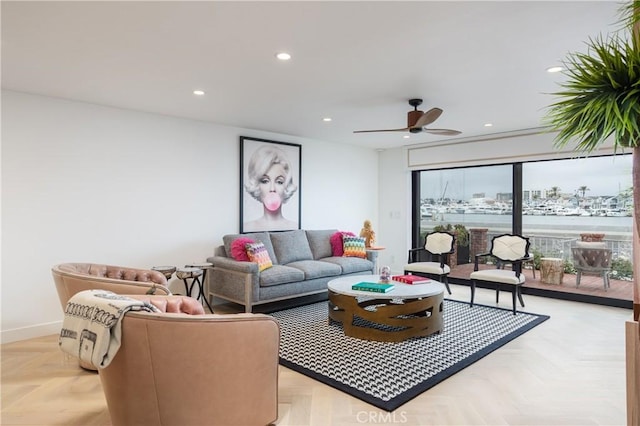
<svg viewBox="0 0 640 426">
<path fill-rule="evenodd" d="M 411 273 L 428 278 L 434 278 L 442 282 L 449 294 L 449 256 L 454 251 L 456 238 L 449 232 L 431 232 L 424 237 L 424 247 L 409 250 L 408 264 L 404 267 L 404 273 Z M 424 255 L 428 261 L 419 261 Z"/>
</svg>

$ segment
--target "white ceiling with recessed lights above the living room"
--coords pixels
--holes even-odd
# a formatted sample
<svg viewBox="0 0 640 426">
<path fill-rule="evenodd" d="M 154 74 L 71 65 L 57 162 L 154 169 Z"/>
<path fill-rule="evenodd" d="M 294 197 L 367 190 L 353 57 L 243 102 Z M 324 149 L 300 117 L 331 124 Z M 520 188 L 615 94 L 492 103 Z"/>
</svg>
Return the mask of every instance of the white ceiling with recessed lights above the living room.
<svg viewBox="0 0 640 426">
<path fill-rule="evenodd" d="M 431 127 L 461 137 L 539 127 L 562 78 L 545 69 L 617 29 L 619 3 L 1 7 L 5 89 L 384 149 L 443 139 L 352 133 L 405 127 L 409 98 L 442 108 Z M 279 51 L 293 58 L 277 61 Z"/>
</svg>

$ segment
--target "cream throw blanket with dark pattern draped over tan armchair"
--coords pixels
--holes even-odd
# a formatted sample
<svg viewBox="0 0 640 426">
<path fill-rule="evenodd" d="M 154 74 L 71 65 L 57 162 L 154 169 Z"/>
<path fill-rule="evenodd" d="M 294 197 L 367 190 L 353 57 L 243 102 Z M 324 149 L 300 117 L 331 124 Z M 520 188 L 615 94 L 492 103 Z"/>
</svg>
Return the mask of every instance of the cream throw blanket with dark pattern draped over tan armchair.
<svg viewBox="0 0 640 426">
<path fill-rule="evenodd" d="M 121 321 L 128 311 L 158 312 L 158 309 L 107 290 L 76 293 L 64 312 L 60 349 L 95 368 L 107 367 L 120 348 Z"/>
</svg>

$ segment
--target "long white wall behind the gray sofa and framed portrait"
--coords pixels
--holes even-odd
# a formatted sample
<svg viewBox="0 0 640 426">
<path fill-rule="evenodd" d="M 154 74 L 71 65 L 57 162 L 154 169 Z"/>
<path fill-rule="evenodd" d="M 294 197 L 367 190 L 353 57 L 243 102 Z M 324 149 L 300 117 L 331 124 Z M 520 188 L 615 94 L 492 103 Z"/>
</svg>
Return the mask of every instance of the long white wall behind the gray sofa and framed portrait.
<svg viewBox="0 0 640 426">
<path fill-rule="evenodd" d="M 59 331 L 54 264 L 210 256 L 238 231 L 241 135 L 302 145 L 303 228 L 378 222 L 378 172 L 354 167 L 373 150 L 3 91 L 2 342 Z"/>
</svg>

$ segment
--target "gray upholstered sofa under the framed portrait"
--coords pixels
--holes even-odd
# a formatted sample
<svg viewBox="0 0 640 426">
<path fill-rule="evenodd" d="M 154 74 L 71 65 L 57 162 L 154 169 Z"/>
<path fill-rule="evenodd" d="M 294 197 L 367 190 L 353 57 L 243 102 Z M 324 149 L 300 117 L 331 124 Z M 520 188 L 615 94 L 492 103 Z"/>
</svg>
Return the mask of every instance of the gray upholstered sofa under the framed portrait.
<svg viewBox="0 0 640 426">
<path fill-rule="evenodd" d="M 254 305 L 326 292 L 327 282 L 340 276 L 373 274 L 378 252 L 367 251 L 366 259 L 333 256 L 330 237 L 335 232 L 336 229 L 325 229 L 225 235 L 224 245 L 216 247 L 215 255 L 207 259 L 213 264 L 208 274 L 209 298 L 239 303 L 251 312 Z M 262 242 L 273 266 L 260 272 L 257 263 L 234 260 L 231 243 L 239 237 Z"/>
</svg>

